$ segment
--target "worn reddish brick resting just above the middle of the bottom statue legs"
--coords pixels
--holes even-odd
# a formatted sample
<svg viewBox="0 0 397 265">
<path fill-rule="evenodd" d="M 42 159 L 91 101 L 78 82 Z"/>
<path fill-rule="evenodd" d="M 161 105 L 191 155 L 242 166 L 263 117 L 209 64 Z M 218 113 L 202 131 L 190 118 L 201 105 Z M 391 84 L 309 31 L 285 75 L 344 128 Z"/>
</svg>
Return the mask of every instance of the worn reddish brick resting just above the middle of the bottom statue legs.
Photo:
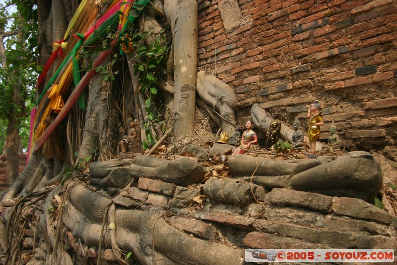
<svg viewBox="0 0 397 265">
<path fill-rule="evenodd" d="M 172 226 L 185 231 L 186 233 L 194 234 L 206 240 L 214 240 L 216 238 L 216 229 L 208 223 L 197 219 L 172 216 L 169 219 Z"/>
</svg>

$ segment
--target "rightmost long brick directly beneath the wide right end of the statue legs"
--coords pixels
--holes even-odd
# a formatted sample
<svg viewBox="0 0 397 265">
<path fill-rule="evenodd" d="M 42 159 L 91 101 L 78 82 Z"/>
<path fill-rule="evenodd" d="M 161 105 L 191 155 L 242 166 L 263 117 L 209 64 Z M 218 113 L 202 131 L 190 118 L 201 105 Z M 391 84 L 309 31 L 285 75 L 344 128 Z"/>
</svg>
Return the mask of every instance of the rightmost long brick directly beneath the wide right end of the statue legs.
<svg viewBox="0 0 397 265">
<path fill-rule="evenodd" d="M 338 215 L 375 220 L 385 224 L 390 224 L 393 221 L 393 216 L 388 212 L 356 198 L 334 197 L 332 200 L 332 210 Z"/>
</svg>

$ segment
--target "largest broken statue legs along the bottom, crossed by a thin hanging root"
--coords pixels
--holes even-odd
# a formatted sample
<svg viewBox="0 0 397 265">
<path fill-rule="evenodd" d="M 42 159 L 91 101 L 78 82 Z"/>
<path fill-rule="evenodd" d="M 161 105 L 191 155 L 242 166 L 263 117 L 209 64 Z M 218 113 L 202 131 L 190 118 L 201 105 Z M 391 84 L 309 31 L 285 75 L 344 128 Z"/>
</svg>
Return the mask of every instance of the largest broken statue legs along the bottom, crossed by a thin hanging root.
<svg viewBox="0 0 397 265">
<path fill-rule="evenodd" d="M 98 246 L 104 209 L 112 203 L 111 199 L 76 184 L 67 200 L 63 216 L 67 229 L 88 246 Z M 121 250 L 132 251 L 142 264 L 229 265 L 244 261 L 242 250 L 191 238 L 170 226 L 159 213 L 116 209 L 115 216 L 117 245 Z M 102 244 L 112 248 L 108 229 Z"/>
</svg>

